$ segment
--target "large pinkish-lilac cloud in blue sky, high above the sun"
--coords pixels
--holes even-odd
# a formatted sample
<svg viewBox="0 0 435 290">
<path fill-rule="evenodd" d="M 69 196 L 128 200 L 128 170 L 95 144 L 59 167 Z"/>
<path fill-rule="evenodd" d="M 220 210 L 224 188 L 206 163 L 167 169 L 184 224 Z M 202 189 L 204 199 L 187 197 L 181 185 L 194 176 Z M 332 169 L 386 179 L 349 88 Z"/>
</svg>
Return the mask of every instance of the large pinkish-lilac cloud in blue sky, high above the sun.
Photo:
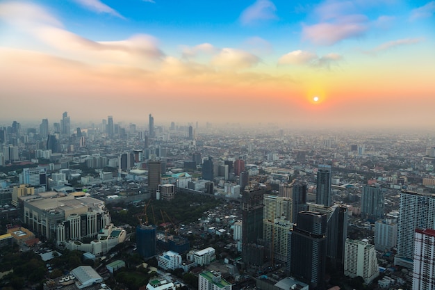
<svg viewBox="0 0 435 290">
<path fill-rule="evenodd" d="M 334 19 L 334 22 L 305 25 L 302 38 L 315 45 L 334 45 L 347 38 L 364 35 L 368 30 L 367 17 L 364 15 L 348 15 Z"/>
</svg>

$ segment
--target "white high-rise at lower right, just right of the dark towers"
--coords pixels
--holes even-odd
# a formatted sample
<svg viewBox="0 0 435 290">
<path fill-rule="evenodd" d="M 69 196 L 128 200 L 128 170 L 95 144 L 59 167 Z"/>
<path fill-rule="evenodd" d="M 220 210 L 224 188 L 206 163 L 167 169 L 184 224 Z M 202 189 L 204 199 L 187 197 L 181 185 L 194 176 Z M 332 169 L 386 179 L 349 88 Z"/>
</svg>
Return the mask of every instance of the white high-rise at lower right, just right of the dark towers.
<svg viewBox="0 0 435 290">
<path fill-rule="evenodd" d="M 370 245 L 365 240 L 346 240 L 345 276 L 351 278 L 361 276 L 366 284 L 370 284 L 379 276 L 379 266 L 374 245 Z"/>
</svg>

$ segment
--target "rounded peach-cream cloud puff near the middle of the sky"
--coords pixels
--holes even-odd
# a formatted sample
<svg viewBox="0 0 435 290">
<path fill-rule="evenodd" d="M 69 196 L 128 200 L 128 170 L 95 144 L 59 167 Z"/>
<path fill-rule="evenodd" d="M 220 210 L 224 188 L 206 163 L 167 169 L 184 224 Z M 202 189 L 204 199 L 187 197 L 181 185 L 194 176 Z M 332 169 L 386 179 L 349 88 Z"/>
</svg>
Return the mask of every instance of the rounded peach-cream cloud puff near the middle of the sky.
<svg viewBox="0 0 435 290">
<path fill-rule="evenodd" d="M 224 48 L 214 56 L 211 64 L 217 67 L 247 68 L 256 65 L 260 61 L 258 56 L 240 49 Z"/>
</svg>

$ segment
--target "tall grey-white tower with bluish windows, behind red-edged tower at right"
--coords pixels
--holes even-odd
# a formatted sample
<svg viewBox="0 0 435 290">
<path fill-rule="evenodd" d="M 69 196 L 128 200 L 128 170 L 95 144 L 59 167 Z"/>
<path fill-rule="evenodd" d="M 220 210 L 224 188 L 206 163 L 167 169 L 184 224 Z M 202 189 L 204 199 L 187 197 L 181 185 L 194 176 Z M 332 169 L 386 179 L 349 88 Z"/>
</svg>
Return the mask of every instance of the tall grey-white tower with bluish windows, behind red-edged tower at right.
<svg viewBox="0 0 435 290">
<path fill-rule="evenodd" d="M 435 195 L 409 191 L 400 193 L 395 265 L 413 268 L 415 230 L 434 229 L 434 223 Z"/>
</svg>

